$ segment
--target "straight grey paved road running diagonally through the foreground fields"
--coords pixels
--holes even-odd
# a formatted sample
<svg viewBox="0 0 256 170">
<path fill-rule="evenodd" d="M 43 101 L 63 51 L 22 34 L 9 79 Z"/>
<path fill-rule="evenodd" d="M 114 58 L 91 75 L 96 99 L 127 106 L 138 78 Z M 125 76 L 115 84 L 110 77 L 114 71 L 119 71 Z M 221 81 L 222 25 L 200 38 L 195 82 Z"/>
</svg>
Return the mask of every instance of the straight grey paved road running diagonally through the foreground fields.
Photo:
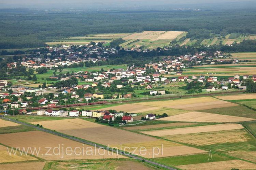
<svg viewBox="0 0 256 170">
<path fill-rule="evenodd" d="M 90 145 L 90 146 L 96 146 L 97 148 L 101 147 L 101 148 L 104 148 L 106 150 L 110 150 L 112 151 L 111 148 L 107 148 L 107 147 L 104 147 L 104 146 L 100 146 L 96 143 L 93 143 L 93 142 L 89 142 L 89 141 L 85 141 L 85 140 L 81 140 L 81 139 L 77 139 L 75 137 L 71 137 L 71 136 L 68 136 L 68 135 L 65 135 L 65 134 L 61 134 L 61 133 L 58 133 L 58 132 L 55 132 L 55 131 L 51 131 L 51 130 L 47 130 L 47 129 L 44 129 L 44 128 L 39 128 L 35 125 L 32 125 L 32 124 L 28 124 L 28 123 L 24 123 L 24 122 L 20 122 L 20 121 L 17 121 L 17 120 L 13 120 L 13 119 L 9 119 L 9 118 L 5 118 L 5 117 L 0 117 L 1 119 L 5 119 L 5 120 L 8 120 L 8 121 L 11 121 L 11 122 L 15 122 L 15 123 L 19 123 L 19 124 L 22 124 L 22 125 L 25 125 L 25 126 L 29 126 L 29 127 L 32 127 L 32 128 L 35 128 L 39 131 L 43 131 L 43 132 L 47 132 L 47 133 L 51 133 L 51 134 L 54 134 L 54 135 L 58 135 L 58 136 L 61 136 L 61 137 L 64 137 L 64 138 L 67 138 L 67 139 L 70 139 L 70 140 L 74 140 L 74 141 L 77 141 L 77 142 L 80 142 L 80 143 L 84 143 L 86 145 Z M 120 150 L 117 151 L 119 155 L 124 155 L 124 153 Z M 141 158 L 139 156 L 136 156 L 136 155 L 127 155 L 131 158 L 134 158 L 134 159 L 138 159 L 138 160 L 143 160 L 144 158 Z M 150 163 L 150 164 L 154 164 L 154 165 L 157 165 L 159 167 L 162 167 L 162 168 L 166 168 L 166 169 L 171 169 L 171 170 L 176 170 L 176 169 L 173 169 L 171 167 L 168 167 L 166 165 L 162 165 L 162 164 L 158 164 L 156 162 L 153 162 L 152 160 L 147 160 L 147 159 L 144 159 L 146 163 Z"/>
</svg>

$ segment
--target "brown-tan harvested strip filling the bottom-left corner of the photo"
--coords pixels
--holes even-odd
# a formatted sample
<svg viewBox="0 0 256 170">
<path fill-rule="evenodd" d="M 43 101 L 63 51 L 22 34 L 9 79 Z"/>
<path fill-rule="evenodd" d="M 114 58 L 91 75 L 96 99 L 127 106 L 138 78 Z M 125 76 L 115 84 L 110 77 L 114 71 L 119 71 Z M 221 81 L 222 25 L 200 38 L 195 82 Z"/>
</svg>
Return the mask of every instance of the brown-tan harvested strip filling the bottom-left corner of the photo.
<svg viewBox="0 0 256 170">
<path fill-rule="evenodd" d="M 42 170 L 45 162 L 28 162 L 28 163 L 12 163 L 0 164 L 0 169 L 4 170 Z"/>
</svg>

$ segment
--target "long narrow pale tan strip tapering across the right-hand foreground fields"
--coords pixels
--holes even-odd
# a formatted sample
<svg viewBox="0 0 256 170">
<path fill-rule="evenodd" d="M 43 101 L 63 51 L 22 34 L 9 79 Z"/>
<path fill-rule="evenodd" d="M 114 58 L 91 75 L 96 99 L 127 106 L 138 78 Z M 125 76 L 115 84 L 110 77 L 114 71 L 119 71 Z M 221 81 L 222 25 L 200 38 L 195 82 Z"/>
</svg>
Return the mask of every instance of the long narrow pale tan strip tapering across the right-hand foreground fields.
<svg viewBox="0 0 256 170">
<path fill-rule="evenodd" d="M 227 124 L 215 124 L 215 125 L 179 128 L 179 129 L 142 131 L 141 133 L 152 135 L 152 136 L 168 136 L 168 135 L 180 135 L 180 134 L 189 134 L 189 133 L 226 131 L 226 130 L 234 130 L 234 129 L 243 129 L 243 126 L 241 124 L 227 123 Z"/>
</svg>

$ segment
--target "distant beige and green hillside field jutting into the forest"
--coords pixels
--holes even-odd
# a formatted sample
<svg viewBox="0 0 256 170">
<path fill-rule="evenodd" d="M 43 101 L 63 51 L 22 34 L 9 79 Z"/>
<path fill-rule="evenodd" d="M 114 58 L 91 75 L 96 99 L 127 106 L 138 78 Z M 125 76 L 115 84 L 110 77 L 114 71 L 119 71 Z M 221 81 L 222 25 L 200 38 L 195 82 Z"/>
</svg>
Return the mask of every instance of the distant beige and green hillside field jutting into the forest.
<svg viewBox="0 0 256 170">
<path fill-rule="evenodd" d="M 183 36 L 186 36 L 186 32 L 144 31 L 142 33 L 134 33 L 124 37 L 123 39 L 127 41 L 119 46 L 124 48 L 142 47 L 143 49 L 156 49 L 157 47 L 168 46 L 173 39 L 180 39 Z"/>
</svg>

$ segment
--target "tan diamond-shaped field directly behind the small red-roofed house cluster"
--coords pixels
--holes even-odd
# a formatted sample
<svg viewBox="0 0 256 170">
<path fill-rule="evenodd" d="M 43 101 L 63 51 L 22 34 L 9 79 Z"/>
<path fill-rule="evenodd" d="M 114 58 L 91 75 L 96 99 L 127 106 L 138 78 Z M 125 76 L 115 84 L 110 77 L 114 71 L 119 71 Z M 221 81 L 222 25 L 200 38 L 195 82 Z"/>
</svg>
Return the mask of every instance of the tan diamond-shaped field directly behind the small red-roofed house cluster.
<svg viewBox="0 0 256 170">
<path fill-rule="evenodd" d="M 106 107 L 104 110 L 116 110 L 117 112 L 119 111 L 124 111 L 128 113 L 141 113 L 141 112 L 146 112 L 146 111 L 151 111 L 155 109 L 159 109 L 160 107 L 153 107 L 153 106 L 143 106 L 143 105 L 138 105 L 138 104 L 123 104 L 123 105 L 118 105 L 118 106 L 112 106 L 112 107 Z"/>
</svg>

